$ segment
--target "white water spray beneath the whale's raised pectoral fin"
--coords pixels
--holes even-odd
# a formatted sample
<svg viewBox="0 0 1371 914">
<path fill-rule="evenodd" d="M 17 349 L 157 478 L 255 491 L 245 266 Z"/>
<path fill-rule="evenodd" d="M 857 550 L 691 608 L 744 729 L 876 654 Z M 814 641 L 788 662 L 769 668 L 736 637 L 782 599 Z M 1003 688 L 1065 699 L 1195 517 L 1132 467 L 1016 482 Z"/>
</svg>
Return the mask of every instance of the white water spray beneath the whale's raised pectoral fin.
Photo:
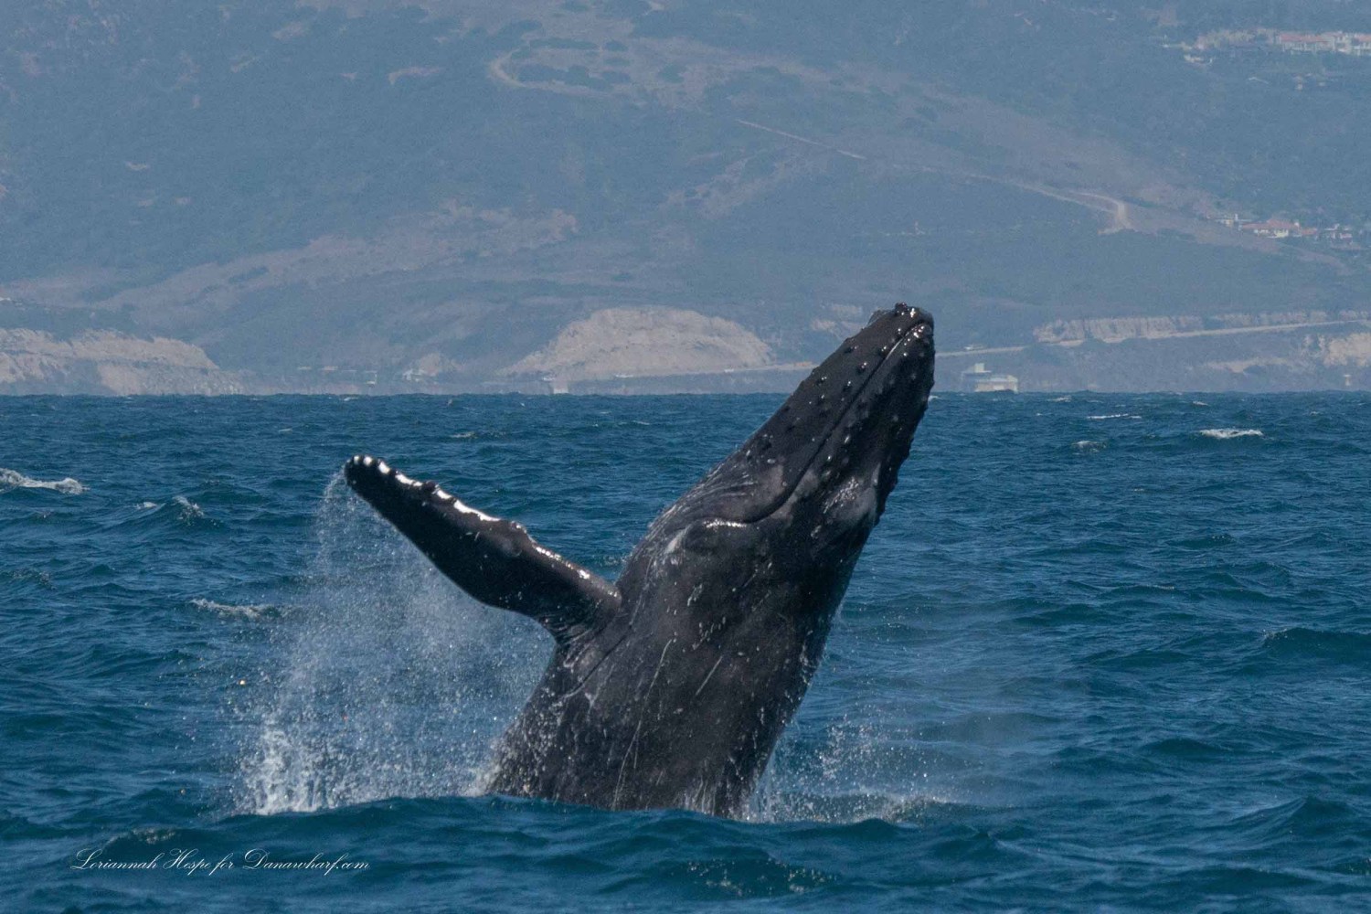
<svg viewBox="0 0 1371 914">
<path fill-rule="evenodd" d="M 529 619 L 473 603 L 341 474 L 317 514 L 299 621 L 248 715 L 240 811 L 478 792 L 494 739 L 546 663 Z M 295 614 L 292 614 L 292 619 Z"/>
</svg>

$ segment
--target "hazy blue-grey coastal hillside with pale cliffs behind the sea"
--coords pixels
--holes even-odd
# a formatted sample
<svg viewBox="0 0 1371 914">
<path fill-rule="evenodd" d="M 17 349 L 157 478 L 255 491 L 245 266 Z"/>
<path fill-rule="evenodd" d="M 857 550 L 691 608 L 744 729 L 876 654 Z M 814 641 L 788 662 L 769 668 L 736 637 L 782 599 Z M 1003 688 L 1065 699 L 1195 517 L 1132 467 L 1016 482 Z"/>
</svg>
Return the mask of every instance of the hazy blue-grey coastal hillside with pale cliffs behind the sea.
<svg viewBox="0 0 1371 914">
<path fill-rule="evenodd" d="M 19 0 L 0 392 L 1371 388 L 1348 0 Z"/>
</svg>

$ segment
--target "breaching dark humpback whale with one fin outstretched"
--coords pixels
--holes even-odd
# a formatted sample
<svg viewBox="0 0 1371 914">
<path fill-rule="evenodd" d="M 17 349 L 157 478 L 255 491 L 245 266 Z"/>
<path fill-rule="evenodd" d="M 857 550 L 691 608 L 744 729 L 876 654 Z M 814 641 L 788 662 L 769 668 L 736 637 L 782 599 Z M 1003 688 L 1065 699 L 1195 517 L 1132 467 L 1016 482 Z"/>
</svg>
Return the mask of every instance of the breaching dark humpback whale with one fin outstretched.
<svg viewBox="0 0 1371 914">
<path fill-rule="evenodd" d="M 555 641 L 487 788 L 740 814 L 818 667 L 932 382 L 932 319 L 877 311 L 662 511 L 614 582 L 436 482 L 348 460 L 348 485 L 439 570 Z"/>
</svg>

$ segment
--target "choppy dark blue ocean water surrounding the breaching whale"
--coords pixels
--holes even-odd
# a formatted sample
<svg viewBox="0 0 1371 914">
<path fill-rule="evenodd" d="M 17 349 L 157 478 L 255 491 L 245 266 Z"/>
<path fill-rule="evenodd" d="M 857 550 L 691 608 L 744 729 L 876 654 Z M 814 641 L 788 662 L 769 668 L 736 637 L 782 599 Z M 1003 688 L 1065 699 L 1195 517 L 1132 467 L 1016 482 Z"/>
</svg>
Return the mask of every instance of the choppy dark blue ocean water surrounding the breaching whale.
<svg viewBox="0 0 1371 914">
<path fill-rule="evenodd" d="M 614 576 L 777 403 L 0 399 L 0 907 L 1371 906 L 1366 395 L 941 395 L 744 818 L 481 795 L 548 640 L 344 459 Z"/>
</svg>

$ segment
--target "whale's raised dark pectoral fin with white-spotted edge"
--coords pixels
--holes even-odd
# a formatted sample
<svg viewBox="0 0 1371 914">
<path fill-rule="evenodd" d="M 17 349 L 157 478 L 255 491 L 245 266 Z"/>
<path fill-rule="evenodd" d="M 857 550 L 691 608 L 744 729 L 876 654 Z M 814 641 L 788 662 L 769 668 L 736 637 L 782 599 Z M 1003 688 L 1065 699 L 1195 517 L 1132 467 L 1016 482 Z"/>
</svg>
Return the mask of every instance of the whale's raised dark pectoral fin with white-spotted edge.
<svg viewBox="0 0 1371 914">
<path fill-rule="evenodd" d="M 481 603 L 533 617 L 558 641 L 599 628 L 618 608 L 613 584 L 435 482 L 417 482 L 370 456 L 352 458 L 343 474 L 458 586 Z"/>
</svg>

